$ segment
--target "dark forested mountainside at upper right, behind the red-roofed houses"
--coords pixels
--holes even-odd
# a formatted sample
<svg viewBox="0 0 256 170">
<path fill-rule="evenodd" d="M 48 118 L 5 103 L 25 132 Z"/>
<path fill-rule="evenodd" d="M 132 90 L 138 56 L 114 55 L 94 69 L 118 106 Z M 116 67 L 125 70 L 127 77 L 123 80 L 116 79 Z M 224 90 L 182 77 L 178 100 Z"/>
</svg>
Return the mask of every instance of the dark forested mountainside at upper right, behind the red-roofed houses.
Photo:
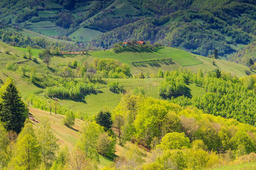
<svg viewBox="0 0 256 170">
<path fill-rule="evenodd" d="M 118 41 L 141 39 L 203 56 L 218 49 L 219 54 L 225 56 L 255 40 L 256 8 L 253 1 L 251 4 L 242 1 L 154 2 L 143 3 L 141 8 L 145 7 L 156 17 L 106 32 L 93 39 L 92 45 L 109 47 Z"/>
</svg>

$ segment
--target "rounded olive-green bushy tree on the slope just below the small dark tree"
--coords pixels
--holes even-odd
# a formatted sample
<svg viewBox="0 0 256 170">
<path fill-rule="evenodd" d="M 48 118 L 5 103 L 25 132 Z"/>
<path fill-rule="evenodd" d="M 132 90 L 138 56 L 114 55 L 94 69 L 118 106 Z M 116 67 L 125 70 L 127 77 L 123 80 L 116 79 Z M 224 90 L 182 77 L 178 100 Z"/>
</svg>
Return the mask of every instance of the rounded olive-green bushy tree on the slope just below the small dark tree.
<svg viewBox="0 0 256 170">
<path fill-rule="evenodd" d="M 115 152 L 115 139 L 109 137 L 107 133 L 102 133 L 98 137 L 97 151 L 99 154 L 113 157 Z"/>
</svg>

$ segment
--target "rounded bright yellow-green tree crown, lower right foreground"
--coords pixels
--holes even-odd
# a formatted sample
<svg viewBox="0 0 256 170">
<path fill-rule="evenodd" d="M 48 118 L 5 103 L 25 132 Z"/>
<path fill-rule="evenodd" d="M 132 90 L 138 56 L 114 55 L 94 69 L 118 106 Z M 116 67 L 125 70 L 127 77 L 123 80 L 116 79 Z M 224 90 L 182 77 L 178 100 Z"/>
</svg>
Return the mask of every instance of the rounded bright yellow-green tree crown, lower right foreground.
<svg viewBox="0 0 256 170">
<path fill-rule="evenodd" d="M 190 147 L 188 137 L 185 137 L 184 133 L 167 133 L 161 140 L 160 145 L 157 147 L 163 150 L 180 149 L 182 147 Z"/>
</svg>

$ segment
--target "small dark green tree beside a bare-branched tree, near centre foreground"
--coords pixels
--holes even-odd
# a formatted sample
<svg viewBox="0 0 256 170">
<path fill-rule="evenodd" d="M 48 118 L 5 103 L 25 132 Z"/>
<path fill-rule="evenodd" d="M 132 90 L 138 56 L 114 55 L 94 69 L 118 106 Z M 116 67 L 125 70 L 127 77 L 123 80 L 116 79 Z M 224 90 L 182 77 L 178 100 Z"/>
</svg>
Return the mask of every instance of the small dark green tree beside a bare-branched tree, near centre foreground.
<svg viewBox="0 0 256 170">
<path fill-rule="evenodd" d="M 101 111 L 96 116 L 96 122 L 103 126 L 105 131 L 110 130 L 113 124 L 111 113 L 109 111 Z"/>
</svg>

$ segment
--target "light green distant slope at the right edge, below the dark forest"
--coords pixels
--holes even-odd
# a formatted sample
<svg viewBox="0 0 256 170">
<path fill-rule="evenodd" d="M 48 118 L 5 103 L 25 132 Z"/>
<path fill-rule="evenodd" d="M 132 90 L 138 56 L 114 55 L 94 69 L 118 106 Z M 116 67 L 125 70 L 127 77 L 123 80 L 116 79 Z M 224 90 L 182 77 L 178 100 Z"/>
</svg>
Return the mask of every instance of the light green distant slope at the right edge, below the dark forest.
<svg viewBox="0 0 256 170">
<path fill-rule="evenodd" d="M 234 56 L 230 58 L 230 61 L 247 65 L 250 58 L 256 62 L 256 41 L 234 54 Z"/>
</svg>

